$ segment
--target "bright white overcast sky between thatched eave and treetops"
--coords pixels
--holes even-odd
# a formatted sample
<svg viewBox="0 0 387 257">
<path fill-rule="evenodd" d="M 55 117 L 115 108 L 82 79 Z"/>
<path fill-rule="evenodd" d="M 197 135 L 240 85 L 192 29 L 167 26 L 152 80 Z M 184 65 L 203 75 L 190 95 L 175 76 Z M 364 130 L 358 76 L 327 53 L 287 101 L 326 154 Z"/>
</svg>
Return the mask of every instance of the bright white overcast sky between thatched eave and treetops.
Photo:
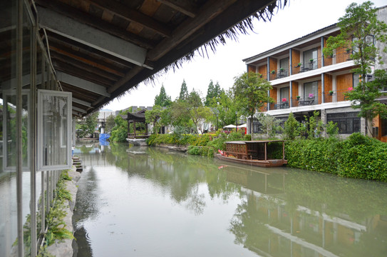
<svg viewBox="0 0 387 257">
<path fill-rule="evenodd" d="M 210 49 L 205 57 L 195 56 L 182 64 L 180 69 L 161 74 L 154 83 L 139 84 L 137 89 L 128 91 L 120 99 L 110 101 L 104 109 L 122 110 L 130 106 L 153 106 L 155 96 L 160 94 L 162 85 L 172 101 L 179 96 L 182 81 L 185 80 L 188 91 L 199 91 L 202 97 L 212 80 L 222 89 L 228 90 L 234 83 L 234 77 L 247 70 L 242 59 L 280 46 L 318 29 L 335 24 L 345 9 L 358 0 L 288 0 L 283 9 L 274 11 L 272 21 L 254 20 L 254 31 L 248 35 L 239 34 L 238 41 L 227 40 L 224 46 L 218 45 L 213 53 Z M 386 0 L 374 0 L 376 7 L 387 5 Z"/>
</svg>

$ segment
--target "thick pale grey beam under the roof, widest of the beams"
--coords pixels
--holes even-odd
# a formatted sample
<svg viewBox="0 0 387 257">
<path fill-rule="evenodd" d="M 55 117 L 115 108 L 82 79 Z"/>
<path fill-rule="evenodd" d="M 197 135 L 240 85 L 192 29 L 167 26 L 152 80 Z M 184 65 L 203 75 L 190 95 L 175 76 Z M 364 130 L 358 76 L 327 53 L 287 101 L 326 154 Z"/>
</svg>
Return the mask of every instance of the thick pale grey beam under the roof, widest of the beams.
<svg viewBox="0 0 387 257">
<path fill-rule="evenodd" d="M 39 25 L 41 28 L 48 29 L 56 34 L 117 56 L 135 65 L 143 66 L 145 63 L 146 49 L 95 29 L 92 26 L 81 24 L 55 11 L 44 9 L 41 6 L 37 6 L 36 8 L 38 9 Z"/>
</svg>

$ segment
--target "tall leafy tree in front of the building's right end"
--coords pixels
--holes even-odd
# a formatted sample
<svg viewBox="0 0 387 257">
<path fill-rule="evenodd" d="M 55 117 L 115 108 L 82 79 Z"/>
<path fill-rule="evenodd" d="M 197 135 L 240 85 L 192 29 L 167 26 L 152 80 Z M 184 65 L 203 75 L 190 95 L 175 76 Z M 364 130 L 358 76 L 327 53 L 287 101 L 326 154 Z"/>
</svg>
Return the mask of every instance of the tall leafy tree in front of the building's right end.
<svg viewBox="0 0 387 257">
<path fill-rule="evenodd" d="M 376 9 L 371 1 L 363 4 L 350 4 L 346 14 L 339 19 L 337 24 L 341 32 L 338 36 L 330 36 L 324 48 L 325 55 L 331 55 L 339 47 L 351 46 L 351 58 L 357 67 L 353 70 L 359 74 L 361 81 L 355 89 L 349 91 L 347 96 L 351 100 L 354 109 L 360 109 L 359 116 L 366 119 L 367 134 L 371 135 L 372 119 L 378 115 L 387 118 L 387 106 L 375 101 L 382 96 L 381 90 L 386 85 L 386 71 L 375 71 L 374 81 L 367 81 L 367 74 L 371 74 L 371 67 L 378 60 L 381 64 L 379 51 L 386 53 L 387 49 L 377 49 L 375 40 L 381 43 L 387 42 L 387 25 L 379 21 Z"/>
</svg>

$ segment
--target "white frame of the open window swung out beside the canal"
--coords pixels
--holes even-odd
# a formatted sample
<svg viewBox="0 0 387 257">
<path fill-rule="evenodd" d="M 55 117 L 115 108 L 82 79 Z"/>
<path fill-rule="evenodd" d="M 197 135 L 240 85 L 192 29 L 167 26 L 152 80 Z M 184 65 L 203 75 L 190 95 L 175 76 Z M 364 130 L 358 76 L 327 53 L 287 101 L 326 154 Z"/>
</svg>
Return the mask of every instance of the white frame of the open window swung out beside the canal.
<svg viewBox="0 0 387 257">
<path fill-rule="evenodd" d="M 58 97 L 64 97 L 67 99 L 67 138 L 66 142 L 62 141 L 62 135 L 61 138 L 58 138 L 61 148 L 66 147 L 66 164 L 54 164 L 54 165 L 44 165 L 43 164 L 43 96 L 58 96 Z M 54 171 L 54 170 L 63 170 L 71 168 L 71 127 L 72 127 L 72 98 L 71 98 L 71 92 L 62 92 L 62 91 L 51 91 L 51 90 L 38 90 L 38 140 L 37 140 L 37 170 L 38 171 Z M 61 125 L 62 125 L 62 119 L 61 119 Z M 61 129 L 63 131 L 63 129 Z"/>
</svg>

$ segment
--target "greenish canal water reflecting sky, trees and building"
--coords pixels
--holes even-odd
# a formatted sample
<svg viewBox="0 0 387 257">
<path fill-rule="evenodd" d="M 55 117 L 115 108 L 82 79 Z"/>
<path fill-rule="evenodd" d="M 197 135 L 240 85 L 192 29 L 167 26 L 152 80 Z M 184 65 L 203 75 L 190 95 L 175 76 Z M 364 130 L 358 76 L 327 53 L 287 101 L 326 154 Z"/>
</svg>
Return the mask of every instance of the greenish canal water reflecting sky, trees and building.
<svg viewBox="0 0 387 257">
<path fill-rule="evenodd" d="M 387 183 L 79 145 L 74 255 L 387 256 Z"/>
</svg>

